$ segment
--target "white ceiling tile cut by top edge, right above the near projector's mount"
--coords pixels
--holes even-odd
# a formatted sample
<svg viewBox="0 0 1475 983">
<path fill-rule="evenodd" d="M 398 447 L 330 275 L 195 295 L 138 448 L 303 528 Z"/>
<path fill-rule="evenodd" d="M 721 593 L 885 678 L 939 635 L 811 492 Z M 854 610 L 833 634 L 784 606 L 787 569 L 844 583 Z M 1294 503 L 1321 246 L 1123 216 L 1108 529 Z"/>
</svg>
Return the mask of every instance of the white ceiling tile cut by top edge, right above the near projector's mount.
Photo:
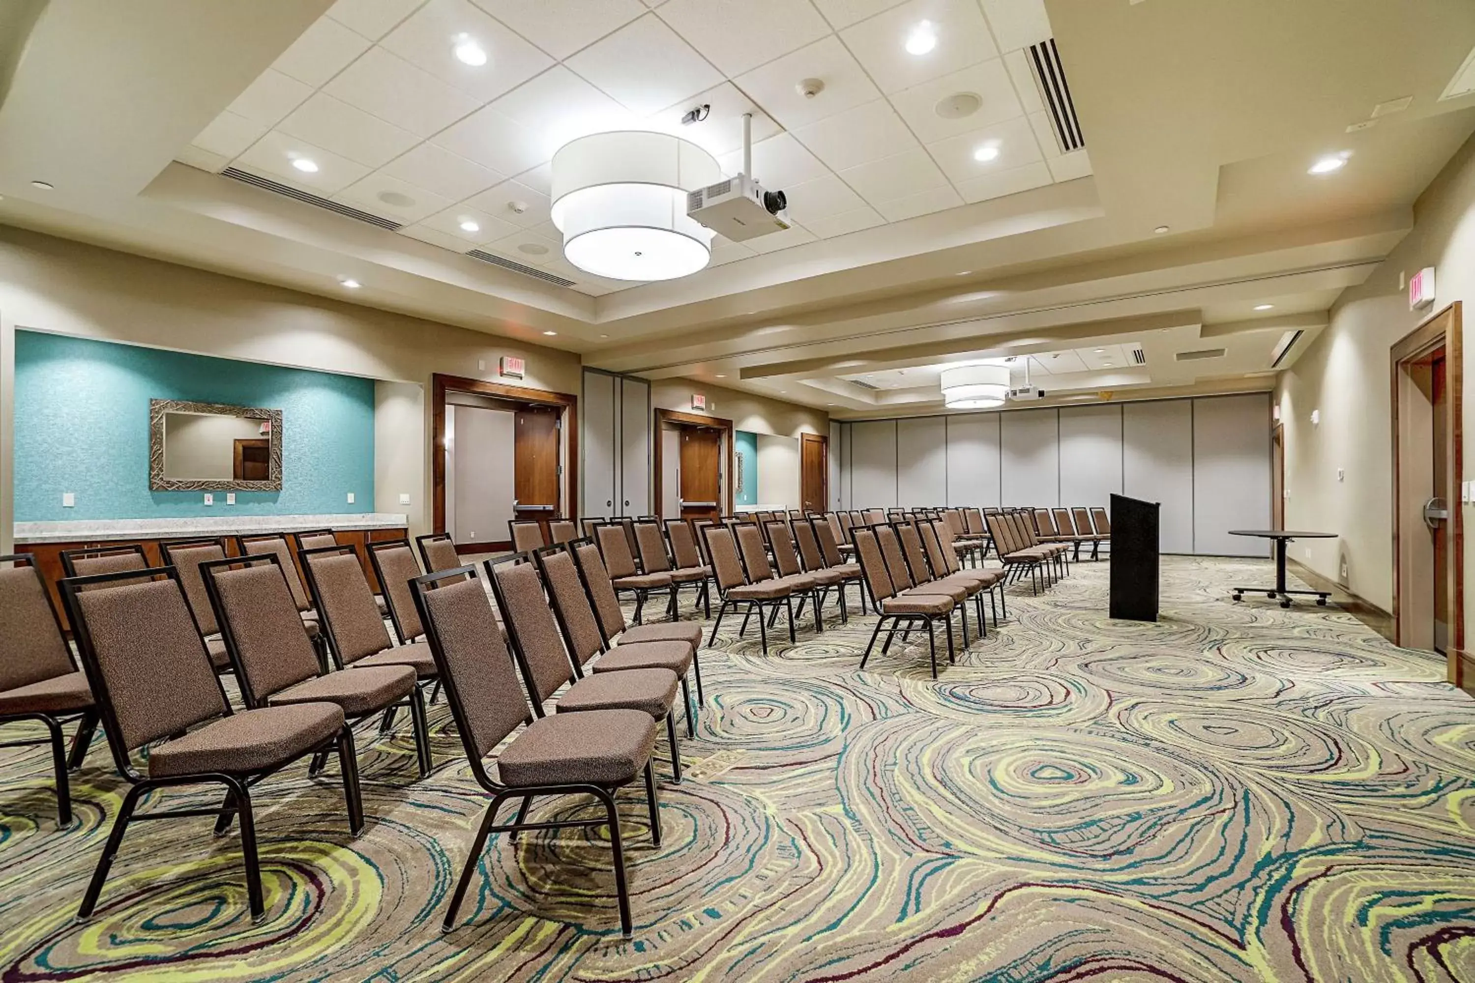
<svg viewBox="0 0 1475 983">
<path fill-rule="evenodd" d="M 656 13 L 729 78 L 830 32 L 810 0 L 670 0 Z"/>
</svg>

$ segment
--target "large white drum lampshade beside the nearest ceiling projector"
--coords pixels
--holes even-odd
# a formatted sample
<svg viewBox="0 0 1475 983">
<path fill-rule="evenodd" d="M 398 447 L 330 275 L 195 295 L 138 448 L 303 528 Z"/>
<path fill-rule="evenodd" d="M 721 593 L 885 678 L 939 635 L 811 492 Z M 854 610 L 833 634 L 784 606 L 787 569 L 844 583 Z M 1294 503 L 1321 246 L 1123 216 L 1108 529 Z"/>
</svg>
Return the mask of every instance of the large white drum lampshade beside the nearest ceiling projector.
<svg viewBox="0 0 1475 983">
<path fill-rule="evenodd" d="M 717 158 L 665 133 L 596 133 L 553 155 L 553 224 L 563 255 L 612 280 L 671 280 L 712 258 L 712 230 L 686 193 L 721 180 Z"/>
</svg>

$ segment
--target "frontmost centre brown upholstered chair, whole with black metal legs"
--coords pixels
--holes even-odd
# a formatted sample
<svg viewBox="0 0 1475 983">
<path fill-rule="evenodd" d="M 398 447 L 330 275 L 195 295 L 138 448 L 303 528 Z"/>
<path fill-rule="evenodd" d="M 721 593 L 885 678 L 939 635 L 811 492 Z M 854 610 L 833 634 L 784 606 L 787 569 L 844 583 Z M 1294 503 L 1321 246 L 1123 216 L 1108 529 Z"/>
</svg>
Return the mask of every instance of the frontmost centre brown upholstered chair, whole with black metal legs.
<svg viewBox="0 0 1475 983">
<path fill-rule="evenodd" d="M 441 930 L 456 927 L 456 912 L 481 865 L 488 834 L 608 825 L 620 928 L 630 937 L 630 890 L 625 884 L 624 840 L 615 793 L 645 774 L 650 839 L 659 846 L 661 811 L 650 766 L 655 721 L 640 710 L 587 710 L 532 719 L 475 567 L 416 578 L 414 603 L 435 665 L 445 681 L 445 699 L 451 704 L 456 732 L 466 749 L 471 772 L 476 784 L 491 793 Z M 527 727 L 503 744 L 522 724 Z M 493 778 L 485 759 L 497 746 L 502 746 L 502 753 L 497 755 L 497 777 Z M 535 796 L 581 794 L 593 796 L 603 806 L 605 815 L 599 819 L 527 822 L 528 806 Z M 518 816 L 512 824 L 499 825 L 497 811 L 509 799 L 522 799 Z"/>
</svg>

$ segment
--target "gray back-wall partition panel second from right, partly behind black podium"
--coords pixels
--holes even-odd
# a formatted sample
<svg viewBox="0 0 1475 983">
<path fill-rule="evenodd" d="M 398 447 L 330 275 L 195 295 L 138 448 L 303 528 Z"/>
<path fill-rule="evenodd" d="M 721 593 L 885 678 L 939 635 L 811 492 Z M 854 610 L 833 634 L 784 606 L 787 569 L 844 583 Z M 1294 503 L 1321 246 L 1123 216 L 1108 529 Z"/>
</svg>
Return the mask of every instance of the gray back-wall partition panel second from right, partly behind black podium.
<svg viewBox="0 0 1475 983">
<path fill-rule="evenodd" d="M 1193 404 L 1128 402 L 1122 416 L 1122 495 L 1155 501 L 1158 547 L 1193 553 Z"/>
</svg>

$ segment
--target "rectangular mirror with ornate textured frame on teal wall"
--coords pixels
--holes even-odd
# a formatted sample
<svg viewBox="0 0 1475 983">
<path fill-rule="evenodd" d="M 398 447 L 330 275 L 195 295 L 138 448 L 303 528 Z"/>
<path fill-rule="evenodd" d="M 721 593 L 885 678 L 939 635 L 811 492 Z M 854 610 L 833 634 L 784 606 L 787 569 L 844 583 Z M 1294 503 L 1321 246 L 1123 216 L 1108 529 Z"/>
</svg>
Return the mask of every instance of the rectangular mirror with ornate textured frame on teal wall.
<svg viewBox="0 0 1475 983">
<path fill-rule="evenodd" d="M 282 411 L 149 399 L 149 488 L 282 491 Z"/>
</svg>

